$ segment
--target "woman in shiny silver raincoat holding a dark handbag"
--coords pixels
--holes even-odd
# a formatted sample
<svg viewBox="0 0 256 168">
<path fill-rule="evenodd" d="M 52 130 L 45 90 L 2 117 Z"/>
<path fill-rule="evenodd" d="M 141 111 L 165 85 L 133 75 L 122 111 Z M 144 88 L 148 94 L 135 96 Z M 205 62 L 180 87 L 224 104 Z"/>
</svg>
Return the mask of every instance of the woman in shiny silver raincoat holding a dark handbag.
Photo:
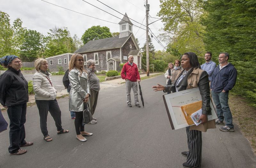
<svg viewBox="0 0 256 168">
<path fill-rule="evenodd" d="M 69 82 L 71 89 L 69 92 L 69 111 L 75 111 L 76 139 L 86 141 L 83 136 L 91 136 L 92 133 L 84 131 L 83 111 L 84 103 L 87 103 L 90 96 L 90 83 L 88 74 L 84 70 L 84 58 L 80 54 L 74 54 L 69 62 Z"/>
</svg>

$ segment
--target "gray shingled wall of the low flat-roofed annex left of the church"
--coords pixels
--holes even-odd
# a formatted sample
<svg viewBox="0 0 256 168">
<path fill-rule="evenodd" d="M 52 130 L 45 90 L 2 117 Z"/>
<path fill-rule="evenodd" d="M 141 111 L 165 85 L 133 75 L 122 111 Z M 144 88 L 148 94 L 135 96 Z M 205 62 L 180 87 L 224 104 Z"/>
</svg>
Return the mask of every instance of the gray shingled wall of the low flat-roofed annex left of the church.
<svg viewBox="0 0 256 168">
<path fill-rule="evenodd" d="M 66 54 L 66 55 L 61 55 L 58 57 L 53 57 L 53 58 L 45 58 L 48 62 L 48 69 L 50 72 L 58 72 L 58 66 L 63 67 L 63 71 L 66 71 L 68 69 L 68 55 L 69 59 L 71 58 L 72 55 Z M 64 58 L 67 58 L 67 63 L 64 63 Z M 59 64 L 58 59 L 61 59 L 61 64 Z M 50 60 L 52 60 L 52 65 L 50 65 Z"/>
</svg>

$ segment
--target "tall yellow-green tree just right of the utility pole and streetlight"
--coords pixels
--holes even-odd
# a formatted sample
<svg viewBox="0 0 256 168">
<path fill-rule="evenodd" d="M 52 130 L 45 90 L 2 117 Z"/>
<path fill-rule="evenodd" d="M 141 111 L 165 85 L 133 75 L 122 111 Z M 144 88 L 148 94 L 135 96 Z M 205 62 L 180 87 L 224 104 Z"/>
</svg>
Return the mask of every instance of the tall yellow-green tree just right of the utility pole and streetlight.
<svg viewBox="0 0 256 168">
<path fill-rule="evenodd" d="M 204 27 L 199 21 L 204 10 L 201 3 L 198 0 L 160 0 L 160 3 L 161 10 L 158 16 L 163 18 L 172 16 L 171 19 L 163 19 L 166 33 L 159 35 L 169 44 L 169 51 L 173 49 L 178 50 L 179 53 L 192 51 L 198 56 L 203 56 Z"/>
</svg>

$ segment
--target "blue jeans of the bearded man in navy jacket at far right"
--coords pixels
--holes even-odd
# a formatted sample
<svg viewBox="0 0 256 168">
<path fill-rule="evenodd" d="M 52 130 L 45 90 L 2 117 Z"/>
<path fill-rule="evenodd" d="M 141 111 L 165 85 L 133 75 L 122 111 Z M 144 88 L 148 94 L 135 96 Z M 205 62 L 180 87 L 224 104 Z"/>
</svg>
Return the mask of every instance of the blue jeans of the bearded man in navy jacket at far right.
<svg viewBox="0 0 256 168">
<path fill-rule="evenodd" d="M 212 99 L 216 105 L 217 116 L 220 121 L 225 120 L 226 125 L 234 128 L 232 114 L 228 106 L 228 92 L 212 92 Z"/>
</svg>

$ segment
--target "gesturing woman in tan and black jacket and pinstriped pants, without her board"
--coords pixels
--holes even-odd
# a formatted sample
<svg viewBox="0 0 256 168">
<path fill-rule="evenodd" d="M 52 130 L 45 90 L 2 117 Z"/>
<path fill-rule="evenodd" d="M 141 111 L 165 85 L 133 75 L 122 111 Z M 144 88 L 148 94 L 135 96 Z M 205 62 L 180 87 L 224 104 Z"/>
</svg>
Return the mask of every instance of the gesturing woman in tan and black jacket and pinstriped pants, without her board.
<svg viewBox="0 0 256 168">
<path fill-rule="evenodd" d="M 198 126 L 186 127 L 188 138 L 188 151 L 181 152 L 187 157 L 187 162 L 183 167 L 192 168 L 201 166 L 202 158 L 202 131 L 206 132 L 209 128 L 216 128 L 215 121 L 207 121 L 207 115 L 211 115 L 210 107 L 210 87 L 207 72 L 201 70 L 198 58 L 195 53 L 188 52 L 182 56 L 181 66 L 183 70 L 177 75 L 172 85 L 166 87 L 159 85 L 153 86 L 155 91 L 164 90 L 164 92 L 179 92 L 190 88 L 198 87 L 202 96 L 202 115 L 198 121 L 202 123 Z"/>
</svg>

